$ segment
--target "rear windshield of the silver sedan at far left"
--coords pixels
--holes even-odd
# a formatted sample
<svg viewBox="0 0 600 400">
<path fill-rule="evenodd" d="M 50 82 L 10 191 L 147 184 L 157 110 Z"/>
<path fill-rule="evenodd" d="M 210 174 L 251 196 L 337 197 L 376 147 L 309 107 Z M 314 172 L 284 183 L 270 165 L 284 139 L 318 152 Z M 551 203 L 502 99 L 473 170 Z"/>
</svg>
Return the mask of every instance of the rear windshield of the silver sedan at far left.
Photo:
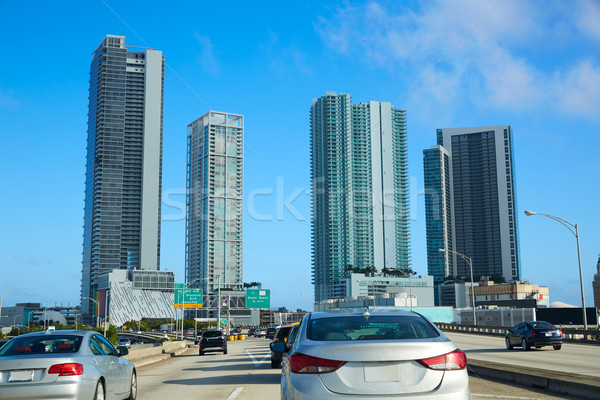
<svg viewBox="0 0 600 400">
<path fill-rule="evenodd" d="M 75 335 L 16 337 L 0 349 L 0 356 L 76 353 L 79 351 L 82 338 Z"/>
</svg>

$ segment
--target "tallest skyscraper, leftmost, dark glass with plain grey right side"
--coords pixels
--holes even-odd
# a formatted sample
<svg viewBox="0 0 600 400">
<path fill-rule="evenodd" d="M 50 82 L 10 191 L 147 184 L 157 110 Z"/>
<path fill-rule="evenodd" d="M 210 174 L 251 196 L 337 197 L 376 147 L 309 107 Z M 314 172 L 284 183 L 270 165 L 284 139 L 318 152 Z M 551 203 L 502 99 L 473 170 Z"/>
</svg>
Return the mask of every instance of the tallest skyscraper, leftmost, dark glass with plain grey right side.
<svg viewBox="0 0 600 400">
<path fill-rule="evenodd" d="M 158 270 L 164 59 L 108 35 L 92 53 L 87 130 L 82 312 L 99 277 Z"/>
</svg>

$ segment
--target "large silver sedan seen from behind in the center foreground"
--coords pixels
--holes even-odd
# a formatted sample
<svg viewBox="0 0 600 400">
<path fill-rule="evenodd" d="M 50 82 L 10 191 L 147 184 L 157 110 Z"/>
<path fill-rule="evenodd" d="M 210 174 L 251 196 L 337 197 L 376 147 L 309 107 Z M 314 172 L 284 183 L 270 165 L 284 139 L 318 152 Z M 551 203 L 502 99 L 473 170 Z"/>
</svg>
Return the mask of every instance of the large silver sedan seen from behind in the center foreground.
<svg viewBox="0 0 600 400">
<path fill-rule="evenodd" d="M 470 399 L 466 364 L 417 313 L 312 313 L 283 359 L 281 398 Z"/>
</svg>

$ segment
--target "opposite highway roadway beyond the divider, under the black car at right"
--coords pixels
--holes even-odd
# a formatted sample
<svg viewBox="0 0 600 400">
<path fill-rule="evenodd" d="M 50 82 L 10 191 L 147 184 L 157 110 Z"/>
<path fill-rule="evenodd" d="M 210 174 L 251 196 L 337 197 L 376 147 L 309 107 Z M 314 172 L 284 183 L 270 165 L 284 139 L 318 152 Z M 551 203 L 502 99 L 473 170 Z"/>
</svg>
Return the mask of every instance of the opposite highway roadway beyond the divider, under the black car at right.
<svg viewBox="0 0 600 400">
<path fill-rule="evenodd" d="M 562 349 L 542 347 L 522 351 L 520 347 L 506 350 L 504 337 L 468 333 L 444 332 L 467 359 L 498 362 L 535 369 L 545 369 L 600 377 L 600 346 L 563 343 Z"/>
</svg>

